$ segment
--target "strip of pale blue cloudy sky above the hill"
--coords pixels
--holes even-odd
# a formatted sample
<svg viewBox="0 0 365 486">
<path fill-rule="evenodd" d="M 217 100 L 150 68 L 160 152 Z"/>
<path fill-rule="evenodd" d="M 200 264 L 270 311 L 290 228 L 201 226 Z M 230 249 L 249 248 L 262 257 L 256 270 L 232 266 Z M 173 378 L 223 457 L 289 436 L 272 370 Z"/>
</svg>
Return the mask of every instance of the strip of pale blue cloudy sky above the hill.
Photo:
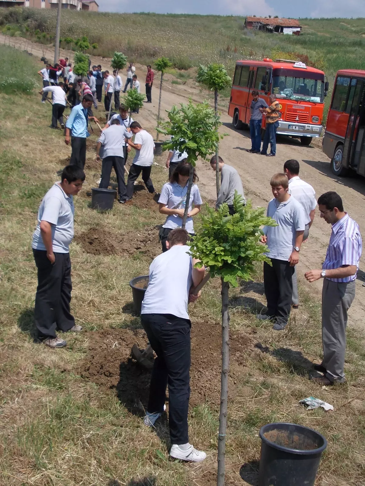
<svg viewBox="0 0 365 486">
<path fill-rule="evenodd" d="M 279 17 L 365 17 L 365 0 L 97 0 L 104 12 L 158 14 L 278 15 Z M 255 7 L 253 7 L 255 5 Z"/>
</svg>

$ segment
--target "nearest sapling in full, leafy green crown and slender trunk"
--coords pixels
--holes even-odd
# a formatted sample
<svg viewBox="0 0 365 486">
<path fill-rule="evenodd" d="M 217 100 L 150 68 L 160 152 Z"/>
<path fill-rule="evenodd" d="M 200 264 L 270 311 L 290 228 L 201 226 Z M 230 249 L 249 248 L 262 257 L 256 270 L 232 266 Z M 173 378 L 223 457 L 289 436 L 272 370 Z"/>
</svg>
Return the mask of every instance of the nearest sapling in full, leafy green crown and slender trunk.
<svg viewBox="0 0 365 486">
<path fill-rule="evenodd" d="M 265 209 L 253 209 L 251 201 L 246 206 L 242 196 L 233 200 L 236 213 L 229 215 L 224 203 L 218 211 L 207 206 L 207 215 L 201 215 L 202 226 L 190 243 L 190 254 L 202 265 L 209 267 L 212 277 L 220 277 L 222 299 L 222 371 L 220 387 L 218 476 L 217 486 L 224 486 L 224 456 L 227 430 L 227 400 L 229 371 L 229 285 L 237 287 L 238 278 L 249 280 L 255 274 L 255 262 L 271 260 L 264 254 L 267 246 L 260 244 L 261 226 L 276 226 L 273 219 L 265 217 Z"/>
</svg>

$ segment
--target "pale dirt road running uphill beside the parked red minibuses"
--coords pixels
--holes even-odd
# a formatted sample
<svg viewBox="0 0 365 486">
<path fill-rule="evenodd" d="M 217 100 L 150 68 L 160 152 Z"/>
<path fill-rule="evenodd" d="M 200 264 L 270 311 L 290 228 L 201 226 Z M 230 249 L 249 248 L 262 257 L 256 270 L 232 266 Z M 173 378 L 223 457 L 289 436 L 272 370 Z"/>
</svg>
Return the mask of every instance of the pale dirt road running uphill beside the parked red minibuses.
<svg viewBox="0 0 365 486">
<path fill-rule="evenodd" d="M 4 35 L 0 35 L 0 42 L 4 42 Z M 11 38 L 11 45 L 24 49 L 24 39 Z M 32 43 L 32 52 L 35 55 L 41 55 L 41 49 L 36 43 Z M 68 52 L 62 51 L 60 55 L 65 56 Z M 51 50 L 48 49 L 49 58 Z M 103 68 L 108 69 L 110 66 L 109 59 L 103 59 L 91 56 L 92 63 L 101 64 Z M 141 82 L 144 84 L 146 68 L 136 65 L 136 73 Z M 124 76 L 123 76 L 124 74 Z M 125 81 L 125 73 L 122 73 Z M 173 104 L 186 103 L 189 96 L 193 101 L 201 101 L 204 97 L 209 97 L 210 93 L 201 92 L 201 88 L 194 81 L 189 80 L 184 85 L 172 85 L 171 76 L 165 76 L 166 82 L 163 88 L 161 111 L 171 108 Z M 156 76 L 155 84 L 152 88 L 152 104 L 145 104 L 144 108 L 135 118 L 153 134 L 156 125 L 156 116 L 158 109 L 158 89 L 159 83 Z M 281 138 L 278 139 L 276 148 L 276 157 L 264 157 L 253 155 L 247 152 L 251 148 L 251 140 L 248 131 L 237 131 L 231 124 L 232 119 L 227 115 L 227 109 L 222 106 L 221 121 L 223 123 L 220 132 L 227 133 L 228 136 L 220 142 L 219 155 L 222 156 L 226 163 L 235 167 L 241 176 L 246 195 L 252 199 L 253 204 L 257 206 L 267 206 L 272 198 L 270 188 L 270 178 L 276 172 L 282 172 L 283 164 L 289 158 L 295 158 L 300 163 L 300 176 L 310 183 L 317 194 L 317 197 L 327 191 L 338 192 L 344 201 L 345 210 L 359 224 L 360 230 L 365 228 L 365 179 L 348 177 L 337 178 L 330 172 L 329 158 L 323 154 L 318 140 L 309 147 L 301 146 L 299 140 Z M 199 161 L 197 165 L 199 174 L 199 188 L 203 199 L 213 200 L 215 198 L 215 176 L 207 162 Z M 306 282 L 304 272 L 311 268 L 321 268 L 321 264 L 326 255 L 326 249 L 329 242 L 330 226 L 319 217 L 319 211 L 316 214 L 314 223 L 310 229 L 310 237 L 307 243 L 304 243 L 300 253 L 299 262 L 299 281 L 305 286 L 317 299 L 320 298 L 322 282 L 317 281 L 312 284 Z M 360 262 L 360 269 L 365 268 L 365 252 Z M 363 287 L 362 277 L 364 272 L 358 273 L 356 282 L 356 297 L 349 311 L 349 325 L 356 325 L 365 329 L 364 311 L 365 311 L 365 287 Z"/>
</svg>

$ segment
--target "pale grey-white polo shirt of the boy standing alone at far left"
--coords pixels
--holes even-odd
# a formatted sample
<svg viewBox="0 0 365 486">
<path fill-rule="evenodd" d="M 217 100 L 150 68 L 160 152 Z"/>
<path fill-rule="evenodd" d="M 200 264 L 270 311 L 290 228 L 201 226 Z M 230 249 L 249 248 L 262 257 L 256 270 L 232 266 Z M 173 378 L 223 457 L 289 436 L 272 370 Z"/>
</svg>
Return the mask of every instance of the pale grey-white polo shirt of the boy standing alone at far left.
<svg viewBox="0 0 365 486">
<path fill-rule="evenodd" d="M 40 222 L 47 221 L 52 230 L 52 247 L 55 253 L 69 253 L 73 239 L 73 196 L 68 196 L 56 182 L 43 197 L 38 209 L 37 227 L 33 233 L 32 248 L 46 250 L 40 233 Z"/>
</svg>

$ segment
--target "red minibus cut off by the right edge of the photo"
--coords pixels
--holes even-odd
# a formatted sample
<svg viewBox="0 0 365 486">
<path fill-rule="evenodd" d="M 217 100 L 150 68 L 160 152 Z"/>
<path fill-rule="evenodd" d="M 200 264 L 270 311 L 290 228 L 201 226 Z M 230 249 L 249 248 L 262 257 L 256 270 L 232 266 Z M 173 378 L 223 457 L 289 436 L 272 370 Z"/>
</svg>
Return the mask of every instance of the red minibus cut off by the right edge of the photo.
<svg viewBox="0 0 365 486">
<path fill-rule="evenodd" d="M 364 95 L 365 71 L 337 72 L 322 144 L 336 175 L 349 169 L 365 175 Z"/>
</svg>

